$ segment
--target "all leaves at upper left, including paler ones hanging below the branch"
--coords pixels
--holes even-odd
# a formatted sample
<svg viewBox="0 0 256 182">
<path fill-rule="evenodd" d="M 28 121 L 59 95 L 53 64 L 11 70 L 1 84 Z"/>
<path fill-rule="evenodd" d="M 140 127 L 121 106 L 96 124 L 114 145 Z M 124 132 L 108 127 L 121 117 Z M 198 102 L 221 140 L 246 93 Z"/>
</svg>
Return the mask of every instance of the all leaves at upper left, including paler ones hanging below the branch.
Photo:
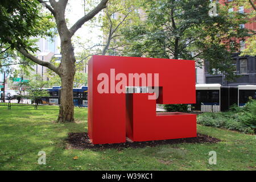
<svg viewBox="0 0 256 182">
<path fill-rule="evenodd" d="M 14 48 L 36 52 L 36 37 L 53 37 L 53 16 L 42 13 L 42 5 L 30 0 L 1 0 L 0 2 L 0 72 L 14 72 L 11 65 L 19 65 L 23 72 L 31 72 L 34 62 Z"/>
</svg>

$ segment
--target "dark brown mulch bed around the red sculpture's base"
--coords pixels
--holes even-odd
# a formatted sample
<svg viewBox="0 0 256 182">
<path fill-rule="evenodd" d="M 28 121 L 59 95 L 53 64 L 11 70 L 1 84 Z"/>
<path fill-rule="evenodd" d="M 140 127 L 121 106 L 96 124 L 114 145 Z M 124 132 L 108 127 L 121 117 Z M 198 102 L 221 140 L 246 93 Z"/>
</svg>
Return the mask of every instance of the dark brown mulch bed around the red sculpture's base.
<svg viewBox="0 0 256 182">
<path fill-rule="evenodd" d="M 92 144 L 89 140 L 87 133 L 68 133 L 67 147 L 66 149 L 95 149 L 104 150 L 107 148 L 116 148 L 122 150 L 123 148 L 142 148 L 142 147 L 155 147 L 162 144 L 177 144 L 177 143 L 217 143 L 220 139 L 210 137 L 208 135 L 197 133 L 197 137 L 194 138 L 181 138 L 181 139 L 169 139 L 169 140 L 154 140 L 147 142 L 130 142 L 126 143 L 114 143 L 114 144 Z"/>
</svg>

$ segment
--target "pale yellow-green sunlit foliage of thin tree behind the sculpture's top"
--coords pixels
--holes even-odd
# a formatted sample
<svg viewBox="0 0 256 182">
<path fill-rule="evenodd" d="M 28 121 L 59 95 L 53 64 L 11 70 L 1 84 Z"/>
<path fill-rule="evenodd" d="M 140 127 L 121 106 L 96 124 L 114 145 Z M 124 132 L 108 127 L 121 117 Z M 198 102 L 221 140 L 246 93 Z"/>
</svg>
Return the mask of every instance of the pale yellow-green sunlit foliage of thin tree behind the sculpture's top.
<svg viewBox="0 0 256 182">
<path fill-rule="evenodd" d="M 130 26 L 139 26 L 141 23 L 141 5 L 144 0 L 111 0 L 108 2 L 104 13 L 97 17 L 97 21 L 91 23 L 93 27 L 101 27 L 102 35 L 98 35 L 95 44 L 89 38 L 81 43 L 80 38 L 75 45 L 84 49 L 78 53 L 77 60 L 89 60 L 92 55 L 119 55 L 123 47 L 129 43 L 123 38 L 121 32 Z"/>
</svg>

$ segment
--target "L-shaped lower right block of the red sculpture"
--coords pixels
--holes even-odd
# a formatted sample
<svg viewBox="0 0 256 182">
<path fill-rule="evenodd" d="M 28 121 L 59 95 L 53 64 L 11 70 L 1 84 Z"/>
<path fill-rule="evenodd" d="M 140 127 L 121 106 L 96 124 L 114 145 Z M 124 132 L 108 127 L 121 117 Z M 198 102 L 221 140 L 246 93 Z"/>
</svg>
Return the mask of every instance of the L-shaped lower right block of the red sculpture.
<svg viewBox="0 0 256 182">
<path fill-rule="evenodd" d="M 195 114 L 156 113 L 156 102 L 147 95 L 127 94 L 127 137 L 139 142 L 196 137 Z"/>
</svg>

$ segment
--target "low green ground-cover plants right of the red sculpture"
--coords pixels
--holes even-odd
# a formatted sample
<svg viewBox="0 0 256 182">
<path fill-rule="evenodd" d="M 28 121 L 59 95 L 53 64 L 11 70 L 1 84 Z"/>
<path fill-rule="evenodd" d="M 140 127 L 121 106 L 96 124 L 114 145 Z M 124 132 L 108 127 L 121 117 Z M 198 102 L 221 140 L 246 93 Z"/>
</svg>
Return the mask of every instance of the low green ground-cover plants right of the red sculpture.
<svg viewBox="0 0 256 182">
<path fill-rule="evenodd" d="M 200 114 L 197 123 L 253 134 L 256 131 L 256 100 L 249 101 L 245 107 L 233 106 L 228 112 Z"/>
</svg>

